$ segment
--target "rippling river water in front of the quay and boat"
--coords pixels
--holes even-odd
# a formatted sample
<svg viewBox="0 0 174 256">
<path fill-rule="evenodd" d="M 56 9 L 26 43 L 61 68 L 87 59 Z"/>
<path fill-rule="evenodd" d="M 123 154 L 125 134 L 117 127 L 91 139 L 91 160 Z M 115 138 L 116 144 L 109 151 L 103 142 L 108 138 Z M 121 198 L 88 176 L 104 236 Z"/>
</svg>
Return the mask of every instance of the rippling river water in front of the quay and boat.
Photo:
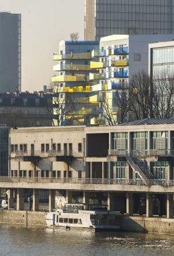
<svg viewBox="0 0 174 256">
<path fill-rule="evenodd" d="M 2 256 L 168 256 L 174 235 L 0 225 Z"/>
</svg>

